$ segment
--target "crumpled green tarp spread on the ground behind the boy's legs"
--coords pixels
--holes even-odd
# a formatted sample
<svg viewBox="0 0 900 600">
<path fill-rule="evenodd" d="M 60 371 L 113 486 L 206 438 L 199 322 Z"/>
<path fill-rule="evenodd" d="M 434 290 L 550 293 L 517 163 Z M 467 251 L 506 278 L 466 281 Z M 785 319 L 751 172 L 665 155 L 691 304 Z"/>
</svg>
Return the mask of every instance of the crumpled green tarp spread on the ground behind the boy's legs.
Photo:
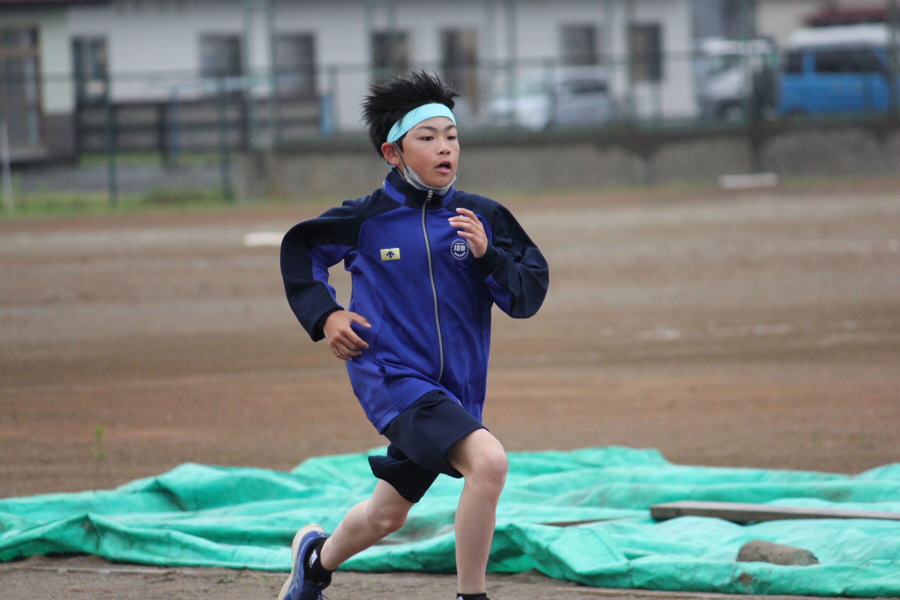
<svg viewBox="0 0 900 600">
<path fill-rule="evenodd" d="M 108 491 L 0 499 L 0 560 L 83 552 L 153 565 L 287 571 L 297 529 L 316 522 L 330 531 L 372 492 L 365 456 L 315 458 L 289 473 L 184 464 Z M 453 572 L 461 489 L 459 480 L 438 478 L 400 532 L 342 569 Z M 900 522 L 741 526 L 650 518 L 652 504 L 687 499 L 900 512 L 900 463 L 848 476 L 682 466 L 654 450 L 621 447 L 510 452 L 489 570 L 537 569 L 598 587 L 900 596 Z M 548 525 L 588 519 L 605 520 Z M 806 548 L 821 564 L 735 562 L 754 539 Z"/>
</svg>

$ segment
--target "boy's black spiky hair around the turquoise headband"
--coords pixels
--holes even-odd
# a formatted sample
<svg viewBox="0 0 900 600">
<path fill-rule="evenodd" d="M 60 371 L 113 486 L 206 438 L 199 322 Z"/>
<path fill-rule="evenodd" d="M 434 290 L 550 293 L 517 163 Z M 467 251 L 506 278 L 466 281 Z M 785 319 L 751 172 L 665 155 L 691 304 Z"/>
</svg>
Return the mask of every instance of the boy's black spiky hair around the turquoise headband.
<svg viewBox="0 0 900 600">
<path fill-rule="evenodd" d="M 382 144 L 387 141 L 393 124 L 401 117 L 422 104 L 440 103 L 451 111 L 455 105 L 454 98 L 459 94 L 449 84 L 441 81 L 434 74 L 428 75 L 424 70 L 410 71 L 405 77 L 392 77 L 381 84 L 369 86 L 371 94 L 363 101 L 363 121 L 369 128 L 369 139 L 375 151 L 382 155 Z M 403 149 L 403 134 L 397 145 Z"/>
</svg>

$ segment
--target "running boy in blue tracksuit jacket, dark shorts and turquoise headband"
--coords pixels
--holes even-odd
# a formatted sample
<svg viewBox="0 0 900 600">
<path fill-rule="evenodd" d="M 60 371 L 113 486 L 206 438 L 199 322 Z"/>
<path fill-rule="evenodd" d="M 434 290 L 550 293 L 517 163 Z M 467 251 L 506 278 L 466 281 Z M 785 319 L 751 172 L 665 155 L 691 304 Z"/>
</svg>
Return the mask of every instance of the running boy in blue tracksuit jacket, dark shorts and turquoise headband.
<svg viewBox="0 0 900 600">
<path fill-rule="evenodd" d="M 347 361 L 365 415 L 390 440 L 369 457 L 378 482 L 331 536 L 319 525 L 293 540 L 279 599 L 318 600 L 331 572 L 401 528 L 439 473 L 464 478 L 455 517 L 458 596 L 486 598 L 506 454 L 482 425 L 491 306 L 534 315 L 547 264 L 509 210 L 455 190 L 458 94 L 412 73 L 370 87 L 369 138 L 392 166 L 381 188 L 293 227 L 282 242 L 284 289 L 314 341 Z M 349 310 L 328 269 L 352 274 Z"/>
</svg>

